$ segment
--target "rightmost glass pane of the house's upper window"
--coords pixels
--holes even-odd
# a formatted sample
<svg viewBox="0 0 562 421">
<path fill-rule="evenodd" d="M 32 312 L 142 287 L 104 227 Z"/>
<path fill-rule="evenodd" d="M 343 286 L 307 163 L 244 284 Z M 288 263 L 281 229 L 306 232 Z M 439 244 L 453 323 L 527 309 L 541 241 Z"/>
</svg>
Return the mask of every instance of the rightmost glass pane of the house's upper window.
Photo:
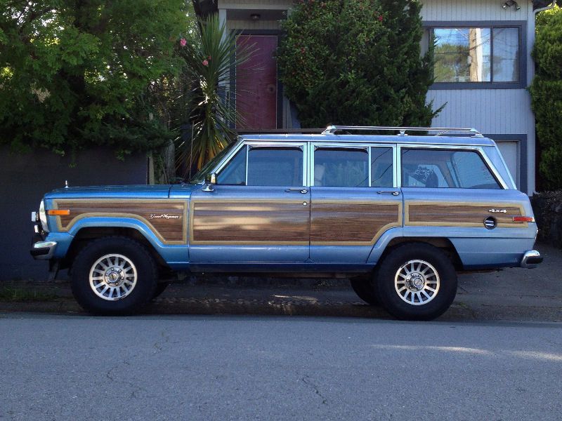
<svg viewBox="0 0 562 421">
<path fill-rule="evenodd" d="M 494 28 L 494 81 L 516 82 L 519 80 L 519 30 Z"/>
</svg>

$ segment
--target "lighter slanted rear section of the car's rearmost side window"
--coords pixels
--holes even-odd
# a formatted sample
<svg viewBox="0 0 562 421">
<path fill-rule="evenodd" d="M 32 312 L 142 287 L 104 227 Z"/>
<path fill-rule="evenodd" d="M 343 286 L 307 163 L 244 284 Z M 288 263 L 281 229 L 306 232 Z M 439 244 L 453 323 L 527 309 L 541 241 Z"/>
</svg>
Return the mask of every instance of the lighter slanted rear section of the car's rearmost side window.
<svg viewBox="0 0 562 421">
<path fill-rule="evenodd" d="M 492 173 L 476 152 L 459 151 L 452 154 L 459 187 L 464 189 L 499 189 Z"/>
</svg>

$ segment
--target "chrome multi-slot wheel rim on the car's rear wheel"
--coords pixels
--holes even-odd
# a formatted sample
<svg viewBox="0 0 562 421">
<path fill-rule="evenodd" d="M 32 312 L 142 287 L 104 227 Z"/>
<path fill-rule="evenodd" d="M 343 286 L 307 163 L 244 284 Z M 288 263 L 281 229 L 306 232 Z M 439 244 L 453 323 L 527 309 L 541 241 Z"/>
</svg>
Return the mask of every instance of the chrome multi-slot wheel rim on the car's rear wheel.
<svg viewBox="0 0 562 421">
<path fill-rule="evenodd" d="M 394 288 L 398 296 L 410 305 L 424 305 L 439 292 L 439 274 L 431 263 L 409 260 L 398 268 Z"/>
</svg>

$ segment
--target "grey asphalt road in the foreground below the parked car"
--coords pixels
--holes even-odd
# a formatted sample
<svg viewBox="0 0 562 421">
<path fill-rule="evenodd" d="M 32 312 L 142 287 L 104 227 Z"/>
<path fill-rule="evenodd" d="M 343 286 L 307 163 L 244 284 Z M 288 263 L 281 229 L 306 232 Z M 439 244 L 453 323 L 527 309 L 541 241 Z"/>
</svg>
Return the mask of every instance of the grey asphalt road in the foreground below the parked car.
<svg viewBox="0 0 562 421">
<path fill-rule="evenodd" d="M 0 420 L 560 420 L 562 323 L 0 314 Z"/>
</svg>

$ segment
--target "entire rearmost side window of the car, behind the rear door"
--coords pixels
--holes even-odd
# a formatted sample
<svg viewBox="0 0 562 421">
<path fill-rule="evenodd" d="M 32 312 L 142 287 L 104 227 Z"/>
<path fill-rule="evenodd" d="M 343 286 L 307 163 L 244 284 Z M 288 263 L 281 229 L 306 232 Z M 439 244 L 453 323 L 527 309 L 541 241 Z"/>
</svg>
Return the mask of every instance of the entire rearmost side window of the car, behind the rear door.
<svg viewBox="0 0 562 421">
<path fill-rule="evenodd" d="M 401 155 L 403 187 L 501 188 L 475 151 L 403 148 Z"/>
</svg>

